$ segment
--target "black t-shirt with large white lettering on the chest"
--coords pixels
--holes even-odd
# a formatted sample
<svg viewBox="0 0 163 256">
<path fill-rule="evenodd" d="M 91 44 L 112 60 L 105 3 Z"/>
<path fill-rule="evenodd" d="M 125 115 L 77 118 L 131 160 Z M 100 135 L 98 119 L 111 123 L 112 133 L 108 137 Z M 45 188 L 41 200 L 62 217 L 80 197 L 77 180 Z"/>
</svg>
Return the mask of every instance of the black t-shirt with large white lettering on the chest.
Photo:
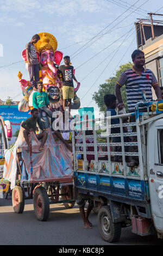
<svg viewBox="0 0 163 256">
<path fill-rule="evenodd" d="M 62 73 L 63 86 L 73 87 L 73 66 L 61 65 L 59 66 L 59 70 Z"/>
</svg>

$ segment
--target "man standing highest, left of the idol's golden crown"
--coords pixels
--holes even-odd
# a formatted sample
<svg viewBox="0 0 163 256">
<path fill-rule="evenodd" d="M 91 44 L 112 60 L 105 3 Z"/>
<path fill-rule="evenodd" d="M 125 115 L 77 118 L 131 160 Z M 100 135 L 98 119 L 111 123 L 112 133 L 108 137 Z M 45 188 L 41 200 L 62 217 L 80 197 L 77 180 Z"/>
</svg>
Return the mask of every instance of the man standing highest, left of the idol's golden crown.
<svg viewBox="0 0 163 256">
<path fill-rule="evenodd" d="M 39 81 L 39 62 L 37 60 L 34 44 L 36 44 L 36 42 L 39 40 L 40 36 L 36 34 L 32 37 L 32 40 L 26 44 L 26 58 L 28 63 L 29 77 L 34 90 L 36 90 L 36 82 Z"/>
</svg>

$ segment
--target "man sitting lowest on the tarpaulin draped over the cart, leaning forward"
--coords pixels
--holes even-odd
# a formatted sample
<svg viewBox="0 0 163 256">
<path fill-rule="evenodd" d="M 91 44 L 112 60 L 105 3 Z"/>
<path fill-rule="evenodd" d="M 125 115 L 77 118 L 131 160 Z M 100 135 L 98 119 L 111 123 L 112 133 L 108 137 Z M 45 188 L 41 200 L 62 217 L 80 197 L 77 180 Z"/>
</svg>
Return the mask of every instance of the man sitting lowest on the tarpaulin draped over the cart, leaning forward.
<svg viewBox="0 0 163 256">
<path fill-rule="evenodd" d="M 24 128 L 23 136 L 24 136 L 24 139 L 26 140 L 27 145 L 28 145 L 28 148 L 26 150 L 27 152 L 29 152 L 29 135 L 30 135 L 30 132 L 32 132 L 32 131 L 35 132 L 37 130 L 36 123 L 37 123 L 37 117 L 38 117 L 39 112 L 38 112 L 38 109 L 33 108 L 32 111 L 30 111 L 30 113 L 32 114 L 32 117 L 26 119 L 21 124 L 21 126 Z M 37 135 L 37 139 L 39 139 L 39 140 L 41 139 L 41 145 L 40 145 L 40 148 L 39 148 L 39 151 L 41 151 L 41 150 L 43 150 L 43 145 L 46 142 L 47 133 L 45 131 L 42 131 L 39 135 Z"/>
</svg>

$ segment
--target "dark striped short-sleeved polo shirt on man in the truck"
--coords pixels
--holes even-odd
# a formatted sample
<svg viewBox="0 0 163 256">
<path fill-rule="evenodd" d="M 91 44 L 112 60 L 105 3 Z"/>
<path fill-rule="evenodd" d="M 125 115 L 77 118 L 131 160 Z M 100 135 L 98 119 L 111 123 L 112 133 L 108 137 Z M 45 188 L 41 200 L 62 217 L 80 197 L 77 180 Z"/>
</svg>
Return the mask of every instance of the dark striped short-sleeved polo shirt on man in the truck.
<svg viewBox="0 0 163 256">
<path fill-rule="evenodd" d="M 123 71 L 117 81 L 119 86 L 126 85 L 127 105 L 129 112 L 135 111 L 137 102 L 142 101 L 142 91 L 146 92 L 146 100 L 152 101 L 152 87 L 158 84 L 155 75 L 150 69 L 143 69 L 141 75 L 137 74 L 134 67 Z M 146 111 L 145 107 L 139 107 L 140 111 Z"/>
</svg>

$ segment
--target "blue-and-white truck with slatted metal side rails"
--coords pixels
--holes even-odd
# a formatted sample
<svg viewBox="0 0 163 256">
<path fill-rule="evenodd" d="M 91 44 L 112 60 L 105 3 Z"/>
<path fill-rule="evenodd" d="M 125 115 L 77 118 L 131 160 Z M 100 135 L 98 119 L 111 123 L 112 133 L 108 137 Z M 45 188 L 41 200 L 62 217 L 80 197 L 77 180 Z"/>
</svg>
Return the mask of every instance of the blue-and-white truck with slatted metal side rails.
<svg viewBox="0 0 163 256">
<path fill-rule="evenodd" d="M 118 241 L 121 229 L 129 225 L 137 235 L 157 233 L 158 238 L 163 238 L 162 105 L 162 101 L 138 102 L 133 113 L 105 117 L 101 119 L 106 125 L 102 134 L 96 130 L 99 119 L 76 122 L 82 127 L 90 127 L 85 122 L 92 123 L 93 131 L 92 135 L 85 135 L 87 128 L 72 133 L 76 197 L 80 194 L 93 200 L 98 208 L 99 233 L 105 241 Z M 146 112 L 140 112 L 140 106 L 146 107 Z M 135 115 L 134 123 L 123 123 L 124 118 L 132 115 Z M 120 123 L 110 125 L 114 118 L 119 118 Z M 136 132 L 127 131 L 127 127 L 134 126 Z M 121 132 L 109 133 L 110 127 L 120 127 Z M 124 142 L 124 137 L 132 136 L 137 138 L 134 142 Z M 121 142 L 113 143 L 113 137 L 120 137 Z M 86 143 L 89 138 L 93 141 Z M 115 146 L 121 146 L 121 150 L 115 151 Z M 94 148 L 93 153 L 87 150 L 89 147 Z M 129 152 L 129 147 L 137 150 Z M 92 154 L 94 160 L 89 164 L 87 156 Z M 122 156 L 122 162 L 114 161 L 117 155 Z M 128 167 L 127 156 L 139 157 L 139 166 Z"/>
</svg>

